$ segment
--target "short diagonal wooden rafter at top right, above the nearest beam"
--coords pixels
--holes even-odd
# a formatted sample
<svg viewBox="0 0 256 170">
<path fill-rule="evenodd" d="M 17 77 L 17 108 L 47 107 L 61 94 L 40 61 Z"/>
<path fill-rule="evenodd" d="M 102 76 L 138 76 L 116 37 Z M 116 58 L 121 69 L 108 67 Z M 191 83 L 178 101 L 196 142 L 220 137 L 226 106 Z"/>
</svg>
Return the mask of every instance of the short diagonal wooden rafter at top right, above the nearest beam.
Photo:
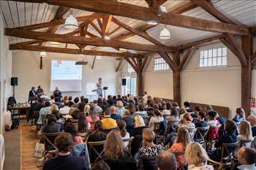
<svg viewBox="0 0 256 170">
<path fill-rule="evenodd" d="M 208 0 L 190 0 L 190 1 L 192 1 L 193 3 L 195 3 L 198 6 L 200 6 L 201 8 L 203 8 L 205 11 L 207 11 L 207 13 L 210 13 L 213 17 L 217 18 L 221 22 L 236 25 L 235 22 L 230 20 L 230 18 L 228 18 L 227 16 L 223 15 L 223 13 L 221 13 L 221 11 L 217 10 L 213 6 L 213 4 L 211 2 L 209 2 Z"/>
</svg>

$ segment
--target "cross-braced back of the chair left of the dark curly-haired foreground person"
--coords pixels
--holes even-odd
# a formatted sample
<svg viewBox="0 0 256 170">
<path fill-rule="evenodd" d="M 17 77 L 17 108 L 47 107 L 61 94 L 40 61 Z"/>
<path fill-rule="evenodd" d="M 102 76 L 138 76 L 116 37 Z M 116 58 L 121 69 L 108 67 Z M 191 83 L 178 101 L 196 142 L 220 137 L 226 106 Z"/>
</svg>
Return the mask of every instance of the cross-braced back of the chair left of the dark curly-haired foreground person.
<svg viewBox="0 0 256 170">
<path fill-rule="evenodd" d="M 57 147 L 54 145 L 54 140 L 61 133 L 62 132 L 42 133 L 42 137 L 43 137 L 43 140 L 44 140 L 45 151 L 47 151 L 47 150 L 57 150 Z"/>
</svg>

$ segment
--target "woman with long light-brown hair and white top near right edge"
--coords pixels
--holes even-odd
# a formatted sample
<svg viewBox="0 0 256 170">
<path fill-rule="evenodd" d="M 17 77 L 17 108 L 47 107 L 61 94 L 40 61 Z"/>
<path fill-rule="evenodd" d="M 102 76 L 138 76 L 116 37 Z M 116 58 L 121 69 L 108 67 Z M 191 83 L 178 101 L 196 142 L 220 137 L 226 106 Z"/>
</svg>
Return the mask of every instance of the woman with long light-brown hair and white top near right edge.
<svg viewBox="0 0 256 170">
<path fill-rule="evenodd" d="M 239 131 L 239 135 L 237 136 L 237 139 L 240 143 L 240 147 L 241 146 L 247 146 L 250 147 L 251 143 L 243 143 L 243 141 L 252 141 L 253 140 L 253 136 L 252 136 L 252 127 L 251 124 L 244 120 L 240 123 L 240 131 Z"/>
</svg>

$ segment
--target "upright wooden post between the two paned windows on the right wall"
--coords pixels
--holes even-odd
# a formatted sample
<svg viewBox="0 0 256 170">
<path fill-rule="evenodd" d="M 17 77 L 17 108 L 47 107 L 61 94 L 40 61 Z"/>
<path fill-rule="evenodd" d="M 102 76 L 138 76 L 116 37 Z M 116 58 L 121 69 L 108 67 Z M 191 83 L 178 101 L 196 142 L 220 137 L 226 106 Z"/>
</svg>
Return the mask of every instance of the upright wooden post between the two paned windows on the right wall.
<svg viewBox="0 0 256 170">
<path fill-rule="evenodd" d="M 180 65 L 180 52 L 177 51 L 173 55 L 173 62 Z M 173 70 L 173 100 L 180 106 L 181 104 L 181 91 L 180 91 L 180 71 L 179 69 Z"/>
</svg>

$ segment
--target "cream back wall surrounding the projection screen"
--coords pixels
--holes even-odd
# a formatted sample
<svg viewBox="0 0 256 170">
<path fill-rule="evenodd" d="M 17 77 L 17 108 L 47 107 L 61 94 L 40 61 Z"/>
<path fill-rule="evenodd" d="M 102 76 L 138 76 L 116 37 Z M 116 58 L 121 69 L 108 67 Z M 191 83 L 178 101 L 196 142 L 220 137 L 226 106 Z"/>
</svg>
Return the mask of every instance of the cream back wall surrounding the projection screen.
<svg viewBox="0 0 256 170">
<path fill-rule="evenodd" d="M 18 51 L 13 53 L 13 76 L 19 79 L 19 85 L 15 89 L 15 96 L 18 102 L 28 101 L 28 92 L 31 87 L 42 85 L 45 93 L 50 95 L 51 85 L 51 59 L 60 60 L 81 60 L 80 55 L 68 55 L 63 53 L 47 53 L 43 60 L 43 69 L 40 69 L 39 52 Z M 93 56 L 88 56 L 86 60 L 89 64 L 83 66 L 82 92 L 63 92 L 63 96 L 86 96 L 86 82 L 97 82 L 101 77 L 103 86 L 107 86 L 106 96 L 116 94 L 116 72 L 115 59 L 112 57 L 102 57 L 95 61 L 92 69 Z M 61 90 L 61 89 L 60 89 Z"/>
</svg>

